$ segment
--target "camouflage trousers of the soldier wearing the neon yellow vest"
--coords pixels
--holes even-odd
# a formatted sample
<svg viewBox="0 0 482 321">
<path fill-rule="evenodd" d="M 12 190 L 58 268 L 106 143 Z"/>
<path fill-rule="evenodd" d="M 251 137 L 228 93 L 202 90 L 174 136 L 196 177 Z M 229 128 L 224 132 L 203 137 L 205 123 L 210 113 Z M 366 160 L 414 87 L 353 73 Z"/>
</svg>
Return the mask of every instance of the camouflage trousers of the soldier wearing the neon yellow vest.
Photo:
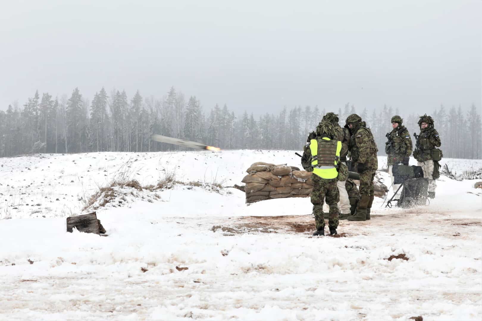
<svg viewBox="0 0 482 321">
<path fill-rule="evenodd" d="M 313 215 L 315 216 L 316 229 L 321 230 L 325 227 L 325 219 L 323 213 L 323 202 L 330 206 L 330 214 L 328 217 L 328 226 L 338 227 L 338 206 L 340 200 L 338 187 L 334 180 L 323 180 L 313 175 L 313 192 L 311 193 L 311 204 L 313 204 Z"/>
</svg>

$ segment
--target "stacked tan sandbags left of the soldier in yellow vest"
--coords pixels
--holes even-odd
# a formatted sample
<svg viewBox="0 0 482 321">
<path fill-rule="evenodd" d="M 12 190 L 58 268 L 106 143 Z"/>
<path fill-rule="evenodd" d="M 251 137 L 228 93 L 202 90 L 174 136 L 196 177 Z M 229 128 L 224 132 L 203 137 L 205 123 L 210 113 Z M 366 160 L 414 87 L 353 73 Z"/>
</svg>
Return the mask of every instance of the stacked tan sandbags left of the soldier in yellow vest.
<svg viewBox="0 0 482 321">
<path fill-rule="evenodd" d="M 256 162 L 241 181 L 246 203 L 274 198 L 308 197 L 313 191 L 311 173 L 298 167 Z"/>
</svg>

